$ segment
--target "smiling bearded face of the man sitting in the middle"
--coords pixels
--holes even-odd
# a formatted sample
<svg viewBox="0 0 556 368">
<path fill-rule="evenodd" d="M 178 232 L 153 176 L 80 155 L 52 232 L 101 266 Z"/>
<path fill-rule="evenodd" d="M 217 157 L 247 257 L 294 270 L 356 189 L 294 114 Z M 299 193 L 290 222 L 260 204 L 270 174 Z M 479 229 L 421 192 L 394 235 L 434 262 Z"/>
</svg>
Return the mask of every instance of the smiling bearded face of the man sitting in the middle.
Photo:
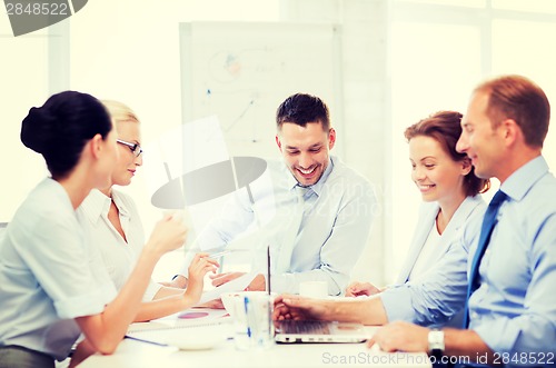
<svg viewBox="0 0 556 368">
<path fill-rule="evenodd" d="M 285 122 L 276 136 L 289 171 L 302 187 L 312 186 L 322 177 L 335 142 L 336 131 L 324 131 L 320 122 L 305 127 Z"/>
</svg>

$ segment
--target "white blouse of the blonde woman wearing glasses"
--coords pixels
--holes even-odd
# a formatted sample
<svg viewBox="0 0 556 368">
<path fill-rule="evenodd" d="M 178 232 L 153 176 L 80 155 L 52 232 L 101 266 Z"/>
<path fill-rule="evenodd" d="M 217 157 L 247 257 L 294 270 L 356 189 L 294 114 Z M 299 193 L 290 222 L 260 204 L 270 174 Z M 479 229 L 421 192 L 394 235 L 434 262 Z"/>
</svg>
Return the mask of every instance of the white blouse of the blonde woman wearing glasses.
<svg viewBox="0 0 556 368">
<path fill-rule="evenodd" d="M 112 189 L 126 240 L 108 219 L 111 199 L 93 189 L 77 212 L 83 226 L 90 228 L 91 243 L 100 249 L 105 267 L 116 288 L 120 290 L 133 270 L 145 245 L 145 232 L 137 207 L 130 196 Z M 152 300 L 162 286 L 150 281 L 142 300 Z"/>
</svg>

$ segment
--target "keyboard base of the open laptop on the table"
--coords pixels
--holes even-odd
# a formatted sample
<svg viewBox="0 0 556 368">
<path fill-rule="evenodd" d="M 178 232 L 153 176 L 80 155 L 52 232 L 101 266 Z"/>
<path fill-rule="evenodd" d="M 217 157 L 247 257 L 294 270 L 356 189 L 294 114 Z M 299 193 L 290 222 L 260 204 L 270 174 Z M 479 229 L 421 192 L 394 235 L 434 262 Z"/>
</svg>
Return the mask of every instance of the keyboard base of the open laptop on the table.
<svg viewBox="0 0 556 368">
<path fill-rule="evenodd" d="M 361 324 L 320 320 L 275 321 L 276 342 L 363 342 L 370 334 Z"/>
</svg>

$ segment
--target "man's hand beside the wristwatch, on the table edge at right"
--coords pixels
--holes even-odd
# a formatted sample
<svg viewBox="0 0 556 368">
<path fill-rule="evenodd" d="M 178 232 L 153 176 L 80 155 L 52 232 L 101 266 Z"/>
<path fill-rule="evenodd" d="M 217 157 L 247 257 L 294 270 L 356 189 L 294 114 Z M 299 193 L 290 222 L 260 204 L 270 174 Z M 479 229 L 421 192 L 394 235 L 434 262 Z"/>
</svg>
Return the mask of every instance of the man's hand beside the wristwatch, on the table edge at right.
<svg viewBox="0 0 556 368">
<path fill-rule="evenodd" d="M 381 327 L 371 339 L 367 347 L 375 344 L 384 351 L 428 351 L 428 332 L 430 330 L 417 325 L 395 321 Z"/>
</svg>

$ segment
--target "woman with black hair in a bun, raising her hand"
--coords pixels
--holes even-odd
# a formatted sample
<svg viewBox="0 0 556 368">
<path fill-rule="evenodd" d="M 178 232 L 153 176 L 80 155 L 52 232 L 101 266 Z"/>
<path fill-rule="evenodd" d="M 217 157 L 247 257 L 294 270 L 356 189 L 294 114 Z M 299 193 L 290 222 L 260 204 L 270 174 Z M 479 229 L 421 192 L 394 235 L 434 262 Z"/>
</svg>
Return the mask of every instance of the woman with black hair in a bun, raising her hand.
<svg viewBox="0 0 556 368">
<path fill-rule="evenodd" d="M 44 157 L 51 177 L 29 193 L 0 242 L 0 367 L 54 367 L 81 332 L 93 350 L 111 354 L 156 262 L 187 230 L 171 216 L 159 221 L 117 294 L 76 216 L 91 189 L 109 185 L 118 161 L 107 110 L 86 93 L 54 95 L 29 111 L 21 141 Z"/>
</svg>

